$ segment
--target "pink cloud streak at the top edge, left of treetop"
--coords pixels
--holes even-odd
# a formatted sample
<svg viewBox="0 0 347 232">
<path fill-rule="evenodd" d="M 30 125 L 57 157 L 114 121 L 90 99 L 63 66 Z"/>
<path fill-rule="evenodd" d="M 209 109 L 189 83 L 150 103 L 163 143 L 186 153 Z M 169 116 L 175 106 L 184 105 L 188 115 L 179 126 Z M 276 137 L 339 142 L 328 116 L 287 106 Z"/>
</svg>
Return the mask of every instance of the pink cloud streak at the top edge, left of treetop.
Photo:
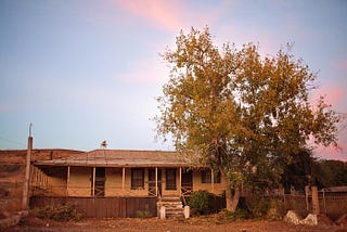
<svg viewBox="0 0 347 232">
<path fill-rule="evenodd" d="M 179 5 L 179 1 L 114 0 L 114 2 L 133 15 L 146 18 L 156 26 L 169 30 L 183 27 L 184 8 Z"/>
</svg>

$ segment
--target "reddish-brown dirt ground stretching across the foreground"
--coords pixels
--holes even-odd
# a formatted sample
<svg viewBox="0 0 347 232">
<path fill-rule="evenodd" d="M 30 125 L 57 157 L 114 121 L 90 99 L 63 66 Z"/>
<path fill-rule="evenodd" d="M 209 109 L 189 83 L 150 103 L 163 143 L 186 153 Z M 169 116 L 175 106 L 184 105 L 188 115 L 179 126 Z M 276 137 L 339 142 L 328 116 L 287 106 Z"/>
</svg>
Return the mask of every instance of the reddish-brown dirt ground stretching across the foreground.
<svg viewBox="0 0 347 232">
<path fill-rule="evenodd" d="M 220 221 L 214 216 L 194 217 L 190 219 L 157 219 L 157 218 L 114 218 L 114 219 L 85 219 L 77 222 L 56 222 L 40 220 L 35 217 L 24 219 L 18 225 L 9 228 L 7 231 L 151 231 L 151 232 L 175 232 L 175 231 L 332 231 L 347 232 L 347 227 L 319 224 L 294 225 L 284 221 L 267 220 L 243 220 L 243 221 Z"/>
</svg>

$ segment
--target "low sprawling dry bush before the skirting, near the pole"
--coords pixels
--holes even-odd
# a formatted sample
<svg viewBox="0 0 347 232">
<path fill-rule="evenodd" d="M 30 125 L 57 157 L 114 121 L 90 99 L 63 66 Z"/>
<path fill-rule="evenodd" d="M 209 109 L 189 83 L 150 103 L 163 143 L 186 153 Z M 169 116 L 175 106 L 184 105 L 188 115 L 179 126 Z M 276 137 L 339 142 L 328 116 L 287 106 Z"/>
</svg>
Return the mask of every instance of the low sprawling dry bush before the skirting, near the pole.
<svg viewBox="0 0 347 232">
<path fill-rule="evenodd" d="M 47 206 L 38 209 L 37 217 L 55 221 L 80 220 L 82 215 L 70 205 Z"/>
</svg>

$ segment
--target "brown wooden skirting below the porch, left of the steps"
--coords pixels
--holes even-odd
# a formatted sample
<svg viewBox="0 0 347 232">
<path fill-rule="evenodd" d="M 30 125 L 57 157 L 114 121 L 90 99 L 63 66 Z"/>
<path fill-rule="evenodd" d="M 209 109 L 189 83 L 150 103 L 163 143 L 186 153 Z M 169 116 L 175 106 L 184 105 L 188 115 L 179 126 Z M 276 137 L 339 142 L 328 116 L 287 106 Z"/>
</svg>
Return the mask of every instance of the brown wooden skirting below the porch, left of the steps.
<svg viewBox="0 0 347 232">
<path fill-rule="evenodd" d="M 54 197 L 33 196 L 30 207 L 72 205 L 77 211 L 89 218 L 133 218 L 137 211 L 147 211 L 156 217 L 155 197 Z"/>
</svg>

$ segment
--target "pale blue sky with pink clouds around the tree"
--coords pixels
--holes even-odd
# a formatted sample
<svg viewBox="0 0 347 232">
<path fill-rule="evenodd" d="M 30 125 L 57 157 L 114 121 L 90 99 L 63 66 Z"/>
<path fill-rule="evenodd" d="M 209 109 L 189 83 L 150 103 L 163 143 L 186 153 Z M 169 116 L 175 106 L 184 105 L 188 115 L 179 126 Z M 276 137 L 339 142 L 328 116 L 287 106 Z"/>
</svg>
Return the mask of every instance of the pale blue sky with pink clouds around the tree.
<svg viewBox="0 0 347 232">
<path fill-rule="evenodd" d="M 156 98 L 169 79 L 160 57 L 182 29 L 209 27 L 214 42 L 259 44 L 318 72 L 319 90 L 347 113 L 345 0 L 0 0 L 0 150 L 172 150 L 156 139 Z M 339 146 L 317 157 L 347 160 Z"/>
</svg>

